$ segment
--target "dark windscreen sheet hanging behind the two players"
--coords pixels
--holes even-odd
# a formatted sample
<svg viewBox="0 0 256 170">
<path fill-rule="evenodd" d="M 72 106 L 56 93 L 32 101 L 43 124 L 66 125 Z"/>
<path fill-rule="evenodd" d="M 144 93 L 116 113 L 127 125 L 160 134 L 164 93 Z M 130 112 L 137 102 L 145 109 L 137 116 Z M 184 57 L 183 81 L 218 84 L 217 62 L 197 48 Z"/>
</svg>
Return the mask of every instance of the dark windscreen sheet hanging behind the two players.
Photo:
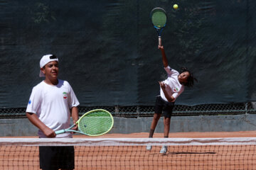
<svg viewBox="0 0 256 170">
<path fill-rule="evenodd" d="M 167 17 L 151 13 L 158 6 Z M 154 106 L 160 93 L 158 81 L 168 77 L 152 28 L 165 22 L 170 67 L 186 67 L 198 79 L 176 106 L 254 102 L 255 8 L 252 0 L 0 1 L 0 115 L 24 115 L 48 54 L 58 57 L 58 78 L 68 81 L 86 111 L 112 107 L 119 114 L 116 106 L 131 106 L 144 114 L 141 108 Z"/>
</svg>

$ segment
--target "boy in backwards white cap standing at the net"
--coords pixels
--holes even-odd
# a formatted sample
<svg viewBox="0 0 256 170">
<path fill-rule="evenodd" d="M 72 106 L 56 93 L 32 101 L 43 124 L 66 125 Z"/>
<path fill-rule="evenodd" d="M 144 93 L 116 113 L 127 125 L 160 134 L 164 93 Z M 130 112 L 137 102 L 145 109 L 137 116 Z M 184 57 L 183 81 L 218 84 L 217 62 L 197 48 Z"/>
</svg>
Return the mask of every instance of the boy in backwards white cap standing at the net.
<svg viewBox="0 0 256 170">
<path fill-rule="evenodd" d="M 56 130 L 70 127 L 78 120 L 78 98 L 68 83 L 58 79 L 58 58 L 44 55 L 39 76 L 45 77 L 33 87 L 26 116 L 39 130 L 38 136 L 71 138 L 71 133 L 56 135 Z M 75 125 L 74 130 L 78 129 Z M 74 147 L 39 147 L 41 169 L 74 169 Z"/>
</svg>

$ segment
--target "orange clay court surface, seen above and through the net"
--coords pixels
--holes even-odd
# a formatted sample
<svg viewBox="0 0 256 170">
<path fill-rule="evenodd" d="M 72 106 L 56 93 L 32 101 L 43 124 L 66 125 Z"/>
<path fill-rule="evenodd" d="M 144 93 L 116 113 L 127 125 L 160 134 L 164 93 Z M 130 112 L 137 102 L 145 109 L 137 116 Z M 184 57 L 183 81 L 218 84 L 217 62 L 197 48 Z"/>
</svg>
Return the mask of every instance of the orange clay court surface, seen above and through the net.
<svg viewBox="0 0 256 170">
<path fill-rule="evenodd" d="M 147 135 L 148 133 L 145 132 L 107 134 L 100 137 L 75 135 L 74 138 L 147 138 Z M 156 133 L 154 137 L 162 137 L 162 134 Z M 178 132 L 170 133 L 170 137 L 216 139 L 256 137 L 256 132 Z M 161 146 L 154 146 L 151 151 L 146 151 L 145 146 L 75 146 L 75 169 L 255 169 L 256 167 L 256 145 L 197 147 L 176 145 L 169 146 L 166 154 L 159 154 L 160 149 Z M 38 147 L 1 146 L 0 155 L 1 169 L 39 169 Z"/>
</svg>

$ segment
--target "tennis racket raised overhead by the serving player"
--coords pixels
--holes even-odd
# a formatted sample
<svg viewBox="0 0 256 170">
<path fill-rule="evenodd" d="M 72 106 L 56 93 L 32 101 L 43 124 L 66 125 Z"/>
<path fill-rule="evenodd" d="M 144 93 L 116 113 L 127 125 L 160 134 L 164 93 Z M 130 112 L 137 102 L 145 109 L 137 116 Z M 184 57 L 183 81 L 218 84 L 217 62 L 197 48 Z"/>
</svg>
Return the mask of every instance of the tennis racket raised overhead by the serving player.
<svg viewBox="0 0 256 170">
<path fill-rule="evenodd" d="M 150 13 L 151 22 L 159 35 L 159 46 L 161 46 L 161 32 L 166 26 L 167 16 L 163 8 L 154 8 Z"/>
</svg>

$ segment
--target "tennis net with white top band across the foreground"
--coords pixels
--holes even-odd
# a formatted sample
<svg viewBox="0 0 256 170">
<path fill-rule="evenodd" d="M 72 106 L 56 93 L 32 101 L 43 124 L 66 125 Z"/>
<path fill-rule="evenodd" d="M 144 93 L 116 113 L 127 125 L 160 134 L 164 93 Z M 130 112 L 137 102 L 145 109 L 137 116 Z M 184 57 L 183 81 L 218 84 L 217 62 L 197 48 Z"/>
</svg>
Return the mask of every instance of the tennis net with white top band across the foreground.
<svg viewBox="0 0 256 170">
<path fill-rule="evenodd" d="M 256 169 L 256 137 L 0 138 L 0 169 L 39 169 L 38 146 L 74 146 L 75 169 Z"/>
</svg>

